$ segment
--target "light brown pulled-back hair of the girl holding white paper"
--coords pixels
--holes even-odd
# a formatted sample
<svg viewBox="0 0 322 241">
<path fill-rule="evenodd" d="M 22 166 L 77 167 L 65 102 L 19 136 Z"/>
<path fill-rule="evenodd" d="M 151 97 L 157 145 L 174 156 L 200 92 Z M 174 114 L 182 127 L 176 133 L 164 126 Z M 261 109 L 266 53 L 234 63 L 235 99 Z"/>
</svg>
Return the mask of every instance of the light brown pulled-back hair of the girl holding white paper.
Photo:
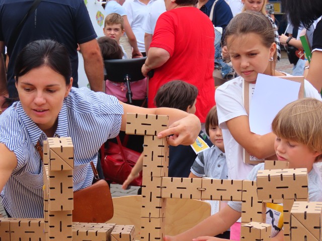
<svg viewBox="0 0 322 241">
<path fill-rule="evenodd" d="M 229 36 L 247 36 L 248 34 L 258 34 L 262 44 L 270 48 L 272 43 L 275 43 L 275 33 L 270 20 L 260 12 L 249 11 L 237 14 L 230 20 L 225 29 L 225 45 L 229 49 L 230 45 L 227 43 Z M 272 74 L 275 72 L 275 65 L 277 61 L 277 51 L 275 51 L 272 63 Z"/>
</svg>

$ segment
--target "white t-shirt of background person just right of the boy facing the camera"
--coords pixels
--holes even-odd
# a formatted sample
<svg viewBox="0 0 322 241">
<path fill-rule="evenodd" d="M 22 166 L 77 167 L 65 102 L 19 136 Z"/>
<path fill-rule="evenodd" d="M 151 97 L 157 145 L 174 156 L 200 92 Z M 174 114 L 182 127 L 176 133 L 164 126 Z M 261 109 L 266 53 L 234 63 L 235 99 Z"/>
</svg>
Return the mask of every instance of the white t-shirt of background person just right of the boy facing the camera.
<svg viewBox="0 0 322 241">
<path fill-rule="evenodd" d="M 127 13 L 127 19 L 136 37 L 137 47 L 140 52 L 145 52 L 143 24 L 148 16 L 150 5 L 155 0 L 150 0 L 147 5 L 139 0 L 126 0 L 123 8 Z"/>
</svg>

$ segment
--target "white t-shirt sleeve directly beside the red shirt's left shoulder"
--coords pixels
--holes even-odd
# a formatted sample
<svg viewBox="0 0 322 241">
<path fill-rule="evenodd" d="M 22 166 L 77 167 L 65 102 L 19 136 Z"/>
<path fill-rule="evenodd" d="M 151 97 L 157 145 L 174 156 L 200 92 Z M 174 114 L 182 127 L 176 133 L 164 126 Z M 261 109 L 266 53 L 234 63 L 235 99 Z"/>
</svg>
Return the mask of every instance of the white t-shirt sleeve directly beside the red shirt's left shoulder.
<svg viewBox="0 0 322 241">
<path fill-rule="evenodd" d="M 153 34 L 156 21 L 161 14 L 166 12 L 166 5 L 164 0 L 156 0 L 150 6 L 150 12 L 143 24 L 143 31 L 147 34 Z"/>
</svg>

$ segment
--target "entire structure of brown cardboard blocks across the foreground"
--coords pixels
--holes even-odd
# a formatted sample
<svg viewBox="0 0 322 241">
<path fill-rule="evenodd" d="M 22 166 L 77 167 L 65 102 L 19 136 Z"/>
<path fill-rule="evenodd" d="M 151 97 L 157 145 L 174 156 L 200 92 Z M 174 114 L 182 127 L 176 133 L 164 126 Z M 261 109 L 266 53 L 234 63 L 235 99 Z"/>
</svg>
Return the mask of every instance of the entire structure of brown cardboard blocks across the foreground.
<svg viewBox="0 0 322 241">
<path fill-rule="evenodd" d="M 257 181 L 168 177 L 167 138 L 156 135 L 168 116 L 128 114 L 126 133 L 144 135 L 142 241 L 163 240 L 167 198 L 240 201 L 241 240 L 270 240 L 266 203 L 283 203 L 284 240 L 322 241 L 322 203 L 308 202 L 306 169 L 288 169 L 287 162 L 266 161 Z M 70 138 L 44 142 L 44 218 L 0 218 L 0 240 L 134 240 L 133 225 L 78 223 L 73 208 L 73 151 Z"/>
</svg>

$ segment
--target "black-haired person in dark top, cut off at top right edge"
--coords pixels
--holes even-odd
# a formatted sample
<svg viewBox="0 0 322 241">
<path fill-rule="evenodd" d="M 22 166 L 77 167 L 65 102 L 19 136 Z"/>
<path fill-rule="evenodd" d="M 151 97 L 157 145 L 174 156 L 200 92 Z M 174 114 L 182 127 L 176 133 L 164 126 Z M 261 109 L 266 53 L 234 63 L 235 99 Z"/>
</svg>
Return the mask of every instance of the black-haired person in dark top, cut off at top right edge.
<svg viewBox="0 0 322 241">
<path fill-rule="evenodd" d="M 322 1 L 320 0 L 282 0 L 282 6 L 288 14 L 294 27 L 303 26 L 308 29 L 315 20 L 322 15 Z M 317 91 L 322 89 L 321 79 L 322 63 L 322 20 L 320 20 L 313 32 L 311 62 L 304 67 L 304 77 Z"/>
</svg>

